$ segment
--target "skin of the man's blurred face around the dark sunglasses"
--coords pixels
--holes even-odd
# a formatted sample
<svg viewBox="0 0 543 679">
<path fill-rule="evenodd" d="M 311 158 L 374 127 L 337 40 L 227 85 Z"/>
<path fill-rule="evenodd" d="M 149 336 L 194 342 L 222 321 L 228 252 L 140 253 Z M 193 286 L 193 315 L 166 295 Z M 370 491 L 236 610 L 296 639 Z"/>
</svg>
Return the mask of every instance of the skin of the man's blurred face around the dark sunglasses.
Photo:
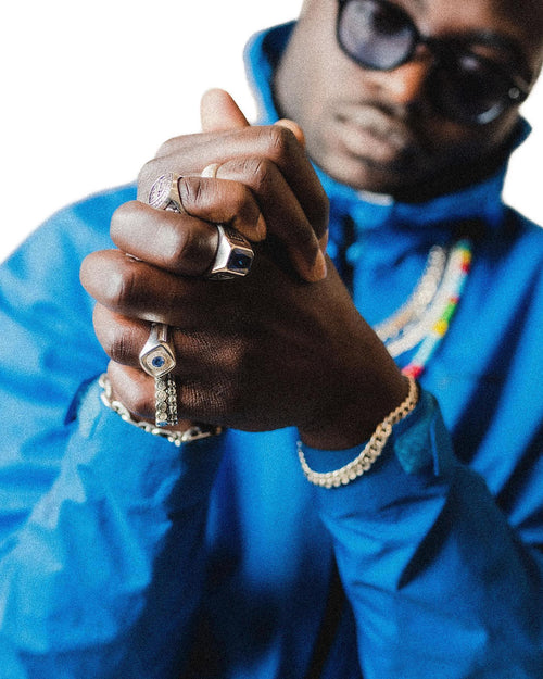
<svg viewBox="0 0 543 679">
<path fill-rule="evenodd" d="M 477 46 L 477 35 L 485 32 L 512 42 L 521 55 L 518 75 L 534 83 L 543 52 L 536 0 L 396 4 L 425 36 L 473 36 Z M 439 115 L 425 91 L 433 63 L 428 48 L 419 46 L 412 61 L 390 72 L 361 68 L 337 43 L 336 12 L 334 1 L 305 2 L 275 81 L 281 113 L 302 126 L 318 165 L 354 188 L 417 202 L 481 179 L 502 163 L 518 121 L 515 106 L 482 126 Z M 500 64 L 513 62 L 505 48 L 475 51 Z"/>
</svg>

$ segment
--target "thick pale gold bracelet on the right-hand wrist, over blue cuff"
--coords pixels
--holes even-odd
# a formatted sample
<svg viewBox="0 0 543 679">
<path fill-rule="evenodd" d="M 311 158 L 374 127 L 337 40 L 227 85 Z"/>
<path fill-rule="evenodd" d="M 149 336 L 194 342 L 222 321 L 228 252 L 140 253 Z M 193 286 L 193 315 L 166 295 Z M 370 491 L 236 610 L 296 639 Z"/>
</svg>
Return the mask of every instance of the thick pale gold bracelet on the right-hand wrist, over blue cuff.
<svg viewBox="0 0 543 679">
<path fill-rule="evenodd" d="M 305 455 L 302 450 L 302 442 L 298 441 L 298 456 L 300 464 L 305 474 L 305 477 L 311 483 L 320 486 L 320 488 L 339 488 L 340 486 L 346 486 L 351 481 L 354 481 L 365 471 L 367 471 L 374 462 L 382 453 L 384 445 L 392 432 L 393 425 L 397 424 L 406 415 L 408 415 L 417 405 L 418 389 L 417 383 L 413 377 L 406 377 L 409 382 L 409 391 L 403 403 L 401 403 L 392 413 L 377 425 L 376 430 L 371 435 L 371 438 L 359 452 L 359 454 L 349 462 L 343 467 L 334 469 L 333 471 L 314 471 L 310 468 Z"/>
</svg>

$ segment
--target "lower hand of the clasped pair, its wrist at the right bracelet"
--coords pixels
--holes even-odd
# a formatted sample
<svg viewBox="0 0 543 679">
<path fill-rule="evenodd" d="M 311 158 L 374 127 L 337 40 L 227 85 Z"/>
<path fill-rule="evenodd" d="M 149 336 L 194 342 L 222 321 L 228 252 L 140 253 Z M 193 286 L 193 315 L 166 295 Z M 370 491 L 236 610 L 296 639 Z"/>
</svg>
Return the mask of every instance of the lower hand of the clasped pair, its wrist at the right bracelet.
<svg viewBox="0 0 543 679">
<path fill-rule="evenodd" d="M 187 419 L 251 431 L 292 425 L 307 444 L 346 448 L 405 397 L 331 264 L 326 280 L 307 285 L 263 248 L 249 277 L 214 282 L 108 251 L 90 255 L 81 277 L 99 302 L 94 326 L 115 395 L 144 419 L 154 387 L 138 354 L 152 320 L 172 327 Z"/>
</svg>

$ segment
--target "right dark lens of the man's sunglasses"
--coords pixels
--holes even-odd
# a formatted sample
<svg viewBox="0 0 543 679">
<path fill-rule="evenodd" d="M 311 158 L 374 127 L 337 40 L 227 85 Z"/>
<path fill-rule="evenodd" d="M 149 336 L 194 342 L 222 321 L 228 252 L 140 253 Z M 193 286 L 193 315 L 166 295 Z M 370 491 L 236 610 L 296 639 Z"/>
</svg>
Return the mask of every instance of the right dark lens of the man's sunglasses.
<svg viewBox="0 0 543 679">
<path fill-rule="evenodd" d="M 507 106 L 504 76 L 479 58 L 466 53 L 435 70 L 430 92 L 439 109 L 460 122 L 484 124 Z"/>
</svg>

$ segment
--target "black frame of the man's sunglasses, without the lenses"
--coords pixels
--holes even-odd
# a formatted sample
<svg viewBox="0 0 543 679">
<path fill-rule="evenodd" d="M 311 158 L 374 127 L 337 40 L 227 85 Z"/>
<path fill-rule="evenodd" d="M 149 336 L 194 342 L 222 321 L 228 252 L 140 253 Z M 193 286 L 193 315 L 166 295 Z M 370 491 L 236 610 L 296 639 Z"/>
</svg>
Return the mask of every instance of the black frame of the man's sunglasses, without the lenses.
<svg viewBox="0 0 543 679">
<path fill-rule="evenodd" d="M 434 64 L 430 72 L 429 78 L 431 78 L 432 73 L 435 73 L 440 70 L 441 71 L 444 70 L 444 72 L 447 73 L 449 72 L 446 68 L 447 63 L 452 63 L 454 61 L 456 61 L 456 63 L 458 62 L 457 56 L 458 54 L 462 53 L 462 51 L 455 50 L 454 47 L 464 45 L 462 40 L 459 39 L 458 40 L 454 40 L 454 39 L 443 40 L 439 38 L 431 38 L 430 36 L 425 36 L 420 33 L 417 25 L 413 21 L 413 18 L 403 8 L 400 8 L 399 5 L 393 4 L 392 2 L 389 2 L 389 0 L 372 0 L 372 1 L 376 4 L 379 4 L 384 8 L 389 8 L 392 12 L 395 13 L 395 15 L 404 17 L 405 28 L 407 28 L 413 36 L 412 45 L 411 45 L 411 48 L 405 53 L 405 55 L 402 56 L 402 59 L 397 60 L 397 62 L 394 62 L 389 66 L 379 67 L 371 63 L 365 62 L 363 59 L 361 59 L 359 56 L 351 52 L 345 47 L 344 41 L 341 37 L 341 22 L 342 22 L 342 16 L 344 14 L 345 8 L 351 3 L 361 2 L 361 0 L 338 0 L 339 8 L 338 8 L 337 20 L 336 20 L 336 39 L 338 41 L 338 45 L 341 51 L 346 56 L 349 56 L 349 59 L 354 61 L 356 64 L 358 64 L 363 68 L 368 68 L 371 71 L 383 71 L 383 72 L 394 71 L 395 68 L 399 68 L 403 64 L 406 64 L 407 62 L 409 62 L 413 59 L 413 55 L 415 54 L 417 48 L 420 45 L 428 48 L 428 50 L 431 52 L 433 60 L 434 60 Z M 442 113 L 449 118 L 458 121 L 464 124 L 485 125 L 488 123 L 491 123 L 492 121 L 495 121 L 509 106 L 521 104 L 527 99 L 528 95 L 530 93 L 530 86 L 518 74 L 513 74 L 508 72 L 507 70 L 502 68 L 500 64 L 495 63 L 494 61 L 490 59 L 485 59 L 484 56 L 480 56 L 479 54 L 476 54 L 469 49 L 465 49 L 464 53 L 472 56 L 473 59 L 479 61 L 481 64 L 484 64 L 485 67 L 489 68 L 489 71 L 494 72 L 497 76 L 503 78 L 504 91 L 502 96 L 500 97 L 500 99 L 496 100 L 495 104 L 491 106 L 490 109 L 488 109 L 487 111 L 483 111 L 480 114 L 466 113 L 465 115 L 458 112 L 457 114 L 452 114 L 450 108 L 445 106 L 443 102 L 440 104 L 439 99 L 435 98 L 434 96 L 432 98 L 432 104 L 437 110 L 439 110 L 440 113 Z"/>
</svg>

